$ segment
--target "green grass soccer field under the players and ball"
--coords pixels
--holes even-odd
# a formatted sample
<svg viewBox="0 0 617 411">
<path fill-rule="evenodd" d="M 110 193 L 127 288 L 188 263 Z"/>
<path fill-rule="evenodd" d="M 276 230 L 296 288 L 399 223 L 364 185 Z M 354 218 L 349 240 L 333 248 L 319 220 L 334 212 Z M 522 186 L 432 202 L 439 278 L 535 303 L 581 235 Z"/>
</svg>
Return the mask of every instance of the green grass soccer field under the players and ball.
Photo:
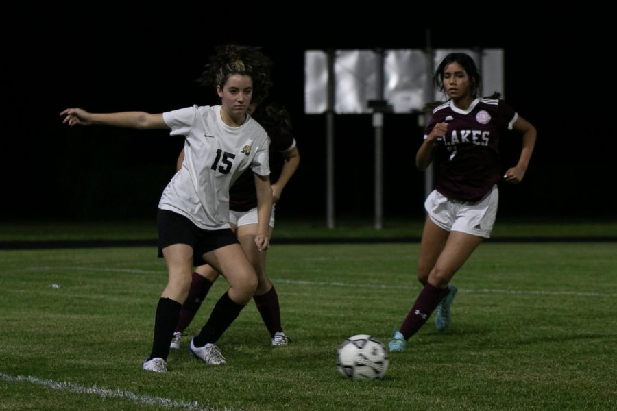
<svg viewBox="0 0 617 411">
<path fill-rule="evenodd" d="M 429 320 L 369 382 L 339 376 L 337 347 L 387 342 L 420 290 L 417 243 L 275 245 L 269 276 L 293 343 L 270 347 L 250 303 L 217 343 L 227 365 L 184 340 L 162 375 L 141 370 L 167 277 L 155 253 L 0 251 L 0 410 L 617 409 L 615 243 L 481 245 L 455 277 L 450 328 Z"/>
</svg>

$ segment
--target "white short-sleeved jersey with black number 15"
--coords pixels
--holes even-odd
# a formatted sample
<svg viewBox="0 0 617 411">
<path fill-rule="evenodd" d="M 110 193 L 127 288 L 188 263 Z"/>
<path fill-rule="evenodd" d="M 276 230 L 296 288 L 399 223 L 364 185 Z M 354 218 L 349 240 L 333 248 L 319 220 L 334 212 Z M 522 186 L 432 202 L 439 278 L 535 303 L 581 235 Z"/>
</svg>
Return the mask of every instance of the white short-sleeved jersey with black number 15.
<svg viewBox="0 0 617 411">
<path fill-rule="evenodd" d="M 229 225 L 229 188 L 251 167 L 269 175 L 268 136 L 247 114 L 239 127 L 221 119 L 221 106 L 163 113 L 171 136 L 185 136 L 184 162 L 160 197 L 158 208 L 182 214 L 202 229 Z"/>
</svg>

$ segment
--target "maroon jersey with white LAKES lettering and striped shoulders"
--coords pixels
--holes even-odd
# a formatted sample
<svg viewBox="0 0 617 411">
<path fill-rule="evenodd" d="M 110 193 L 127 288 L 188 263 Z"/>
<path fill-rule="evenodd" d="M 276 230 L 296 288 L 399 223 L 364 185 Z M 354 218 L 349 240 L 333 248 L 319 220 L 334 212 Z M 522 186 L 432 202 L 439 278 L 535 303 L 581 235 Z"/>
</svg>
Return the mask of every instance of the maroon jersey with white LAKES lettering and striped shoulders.
<svg viewBox="0 0 617 411">
<path fill-rule="evenodd" d="M 435 154 L 435 190 L 461 201 L 479 201 L 499 181 L 499 135 L 518 114 L 503 100 L 475 99 L 467 110 L 448 101 L 433 110 L 424 138 L 437 123 L 448 123 Z"/>
</svg>

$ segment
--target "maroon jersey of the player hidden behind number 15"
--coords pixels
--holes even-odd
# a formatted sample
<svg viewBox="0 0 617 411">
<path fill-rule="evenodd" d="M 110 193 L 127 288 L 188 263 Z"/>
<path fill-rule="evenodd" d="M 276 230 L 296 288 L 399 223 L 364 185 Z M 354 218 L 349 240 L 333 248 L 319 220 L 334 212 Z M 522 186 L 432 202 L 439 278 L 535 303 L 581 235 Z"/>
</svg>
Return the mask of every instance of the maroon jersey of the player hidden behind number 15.
<svg viewBox="0 0 617 411">
<path fill-rule="evenodd" d="M 269 127 L 267 124 L 262 125 L 270 138 L 270 158 L 273 158 L 272 153 L 275 151 L 281 153 L 295 147 L 295 139 L 290 132 L 278 127 Z M 229 209 L 233 211 L 248 211 L 255 207 L 257 207 L 255 179 L 253 172 L 247 169 L 238 177 L 229 190 Z"/>
</svg>

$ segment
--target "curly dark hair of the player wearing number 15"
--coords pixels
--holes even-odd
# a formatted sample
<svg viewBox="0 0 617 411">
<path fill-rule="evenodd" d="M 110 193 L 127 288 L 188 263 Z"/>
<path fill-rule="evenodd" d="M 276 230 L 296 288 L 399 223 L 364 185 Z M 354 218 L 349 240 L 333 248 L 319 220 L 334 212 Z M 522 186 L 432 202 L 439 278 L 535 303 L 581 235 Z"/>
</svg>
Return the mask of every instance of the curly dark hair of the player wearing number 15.
<svg viewBox="0 0 617 411">
<path fill-rule="evenodd" d="M 203 86 L 225 86 L 230 75 L 247 75 L 253 80 L 253 104 L 268 96 L 271 60 L 261 52 L 261 47 L 221 45 L 215 49 L 202 75 L 197 79 Z"/>
</svg>

